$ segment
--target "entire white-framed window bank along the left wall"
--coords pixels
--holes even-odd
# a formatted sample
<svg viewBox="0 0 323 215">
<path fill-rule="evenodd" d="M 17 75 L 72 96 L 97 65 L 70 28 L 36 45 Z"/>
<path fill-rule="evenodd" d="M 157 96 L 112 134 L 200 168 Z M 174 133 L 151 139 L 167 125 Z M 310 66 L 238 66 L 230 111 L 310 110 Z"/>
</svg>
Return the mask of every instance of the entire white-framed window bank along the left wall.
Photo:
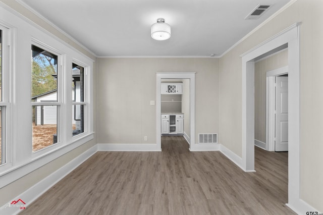
<svg viewBox="0 0 323 215">
<path fill-rule="evenodd" d="M 6 186 L 94 138 L 94 56 L 0 11 L 0 184 Z M 80 71 L 72 99 L 73 63 Z"/>
</svg>

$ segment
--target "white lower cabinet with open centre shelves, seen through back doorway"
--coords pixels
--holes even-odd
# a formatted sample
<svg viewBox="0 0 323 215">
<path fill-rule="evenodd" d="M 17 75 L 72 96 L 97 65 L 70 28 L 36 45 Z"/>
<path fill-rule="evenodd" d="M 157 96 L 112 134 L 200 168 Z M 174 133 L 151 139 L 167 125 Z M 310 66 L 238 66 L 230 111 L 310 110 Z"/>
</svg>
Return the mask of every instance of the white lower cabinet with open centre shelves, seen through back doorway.
<svg viewBox="0 0 323 215">
<path fill-rule="evenodd" d="M 162 114 L 161 134 L 184 134 L 184 115 Z"/>
</svg>

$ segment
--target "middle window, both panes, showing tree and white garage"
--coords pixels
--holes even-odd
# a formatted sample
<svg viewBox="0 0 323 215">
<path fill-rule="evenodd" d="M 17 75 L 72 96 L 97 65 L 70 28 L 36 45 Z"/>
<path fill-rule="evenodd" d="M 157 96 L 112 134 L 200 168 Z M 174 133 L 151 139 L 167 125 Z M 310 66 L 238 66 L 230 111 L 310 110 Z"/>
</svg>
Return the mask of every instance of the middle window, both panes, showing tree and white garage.
<svg viewBox="0 0 323 215">
<path fill-rule="evenodd" d="M 31 46 L 32 149 L 38 151 L 60 141 L 58 121 L 58 56 Z"/>
</svg>

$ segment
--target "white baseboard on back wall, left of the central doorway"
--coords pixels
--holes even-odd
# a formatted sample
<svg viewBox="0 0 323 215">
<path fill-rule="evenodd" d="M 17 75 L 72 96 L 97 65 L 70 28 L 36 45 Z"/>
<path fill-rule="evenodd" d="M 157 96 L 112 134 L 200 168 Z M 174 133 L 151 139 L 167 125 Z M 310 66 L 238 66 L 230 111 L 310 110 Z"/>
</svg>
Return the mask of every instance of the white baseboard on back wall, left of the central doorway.
<svg viewBox="0 0 323 215">
<path fill-rule="evenodd" d="M 157 144 L 113 144 L 99 143 L 98 151 L 160 151 Z"/>
</svg>

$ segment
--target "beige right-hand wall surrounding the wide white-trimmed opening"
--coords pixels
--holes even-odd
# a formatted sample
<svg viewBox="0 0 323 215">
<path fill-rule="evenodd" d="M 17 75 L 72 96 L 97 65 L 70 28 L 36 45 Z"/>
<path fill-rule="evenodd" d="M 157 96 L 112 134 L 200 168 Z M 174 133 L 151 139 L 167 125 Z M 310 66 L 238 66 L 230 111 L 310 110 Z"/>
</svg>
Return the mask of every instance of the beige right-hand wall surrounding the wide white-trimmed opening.
<svg viewBox="0 0 323 215">
<path fill-rule="evenodd" d="M 244 52 L 296 22 L 300 25 L 300 191 L 323 211 L 323 1 L 298 0 L 220 59 L 220 143 L 242 157 L 242 62 Z M 292 143 L 291 143 L 292 144 Z"/>
</svg>

